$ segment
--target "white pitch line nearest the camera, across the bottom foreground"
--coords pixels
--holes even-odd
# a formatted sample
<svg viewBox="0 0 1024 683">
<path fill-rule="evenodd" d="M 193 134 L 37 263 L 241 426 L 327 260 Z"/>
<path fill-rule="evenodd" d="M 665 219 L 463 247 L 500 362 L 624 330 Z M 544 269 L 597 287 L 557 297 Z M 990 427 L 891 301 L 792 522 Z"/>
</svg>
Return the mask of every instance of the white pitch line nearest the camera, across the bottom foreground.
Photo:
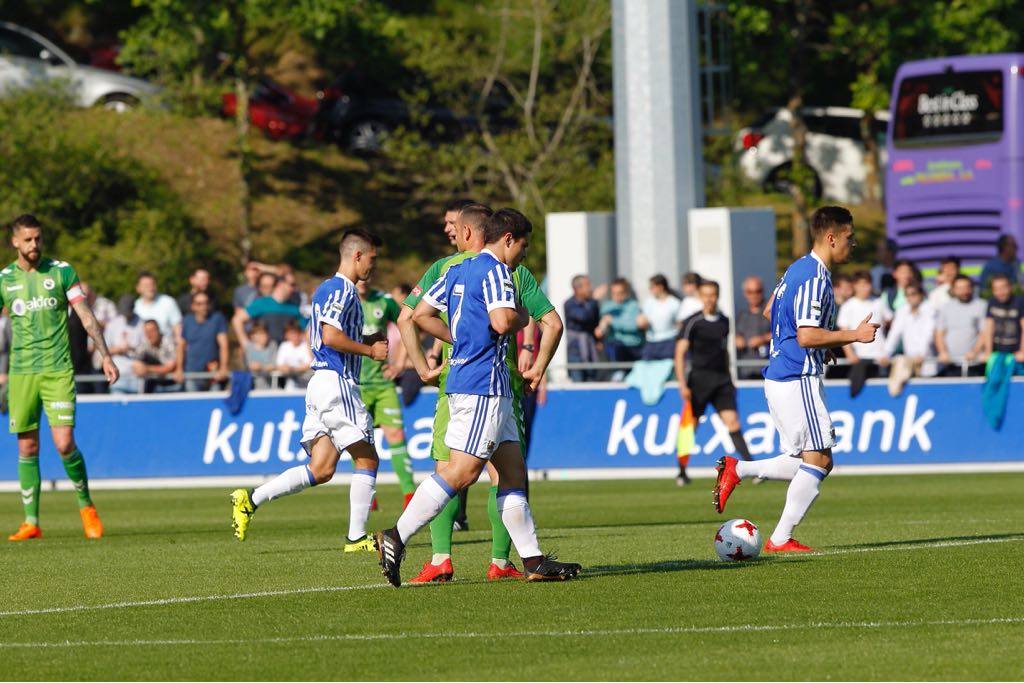
<svg viewBox="0 0 1024 683">
<path fill-rule="evenodd" d="M 65 647 L 152 647 L 167 645 L 256 645 L 273 643 L 387 641 L 409 639 L 477 639 L 477 638 L 594 638 L 609 636 L 648 636 L 705 633 L 758 633 L 776 631 L 805 631 L 809 629 L 905 629 L 930 626 L 998 626 L 1024 624 L 1024 616 L 997 616 L 993 618 L 933 620 L 916 622 L 808 622 L 806 624 L 738 624 L 734 626 L 681 626 L 647 629 L 597 629 L 581 631 L 504 631 L 466 633 L 379 633 L 379 634 L 315 634 L 311 636 L 283 636 L 278 638 L 223 638 L 223 639 L 160 639 L 160 640 L 63 640 L 42 642 L 0 642 L 0 649 L 13 648 L 65 648 Z"/>
</svg>

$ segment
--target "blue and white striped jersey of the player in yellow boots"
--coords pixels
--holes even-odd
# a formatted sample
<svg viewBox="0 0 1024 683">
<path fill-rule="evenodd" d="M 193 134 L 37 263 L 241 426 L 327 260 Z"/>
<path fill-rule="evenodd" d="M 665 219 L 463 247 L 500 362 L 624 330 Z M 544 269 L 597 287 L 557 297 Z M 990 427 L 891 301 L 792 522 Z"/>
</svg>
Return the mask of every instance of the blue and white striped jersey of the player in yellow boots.
<svg viewBox="0 0 1024 683">
<path fill-rule="evenodd" d="M 362 342 L 362 303 L 351 280 L 337 273 L 324 281 L 313 292 L 313 313 L 309 321 L 309 346 L 312 348 L 313 370 L 333 370 L 339 377 L 359 383 L 362 356 L 342 353 L 324 343 L 322 325 L 330 325 L 348 335 L 354 342 Z"/>
</svg>

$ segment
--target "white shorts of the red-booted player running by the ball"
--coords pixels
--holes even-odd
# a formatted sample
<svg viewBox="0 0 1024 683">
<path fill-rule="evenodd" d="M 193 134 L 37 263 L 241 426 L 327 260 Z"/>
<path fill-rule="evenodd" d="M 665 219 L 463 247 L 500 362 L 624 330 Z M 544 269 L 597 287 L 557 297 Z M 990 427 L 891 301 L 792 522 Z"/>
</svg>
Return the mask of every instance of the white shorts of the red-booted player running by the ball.
<svg viewBox="0 0 1024 683">
<path fill-rule="evenodd" d="M 801 377 L 790 382 L 765 380 L 765 397 L 784 455 L 836 445 L 821 377 Z"/>
</svg>

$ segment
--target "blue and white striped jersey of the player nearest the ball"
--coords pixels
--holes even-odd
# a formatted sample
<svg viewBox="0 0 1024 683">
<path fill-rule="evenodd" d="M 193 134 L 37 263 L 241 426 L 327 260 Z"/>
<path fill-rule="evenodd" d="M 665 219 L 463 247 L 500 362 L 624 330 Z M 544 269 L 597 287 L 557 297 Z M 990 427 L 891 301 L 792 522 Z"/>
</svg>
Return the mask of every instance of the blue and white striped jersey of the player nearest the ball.
<svg viewBox="0 0 1024 683">
<path fill-rule="evenodd" d="M 802 347 L 797 342 L 797 329 L 836 329 L 836 299 L 828 268 L 811 252 L 786 268 L 775 286 L 774 297 L 771 354 L 764 369 L 765 379 L 788 382 L 821 375 L 825 370 L 825 350 Z"/>
</svg>

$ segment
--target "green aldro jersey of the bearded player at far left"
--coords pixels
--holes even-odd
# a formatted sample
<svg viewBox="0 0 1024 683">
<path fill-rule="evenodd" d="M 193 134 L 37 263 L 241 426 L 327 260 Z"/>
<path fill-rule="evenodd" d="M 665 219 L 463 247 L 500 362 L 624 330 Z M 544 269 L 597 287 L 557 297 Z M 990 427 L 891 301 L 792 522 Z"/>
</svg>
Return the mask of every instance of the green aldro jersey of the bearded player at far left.
<svg viewBox="0 0 1024 683">
<path fill-rule="evenodd" d="M 65 261 L 43 258 L 32 271 L 15 261 L 0 270 L 0 303 L 10 314 L 11 375 L 72 370 L 68 306 L 84 298 L 78 273 Z"/>
</svg>

